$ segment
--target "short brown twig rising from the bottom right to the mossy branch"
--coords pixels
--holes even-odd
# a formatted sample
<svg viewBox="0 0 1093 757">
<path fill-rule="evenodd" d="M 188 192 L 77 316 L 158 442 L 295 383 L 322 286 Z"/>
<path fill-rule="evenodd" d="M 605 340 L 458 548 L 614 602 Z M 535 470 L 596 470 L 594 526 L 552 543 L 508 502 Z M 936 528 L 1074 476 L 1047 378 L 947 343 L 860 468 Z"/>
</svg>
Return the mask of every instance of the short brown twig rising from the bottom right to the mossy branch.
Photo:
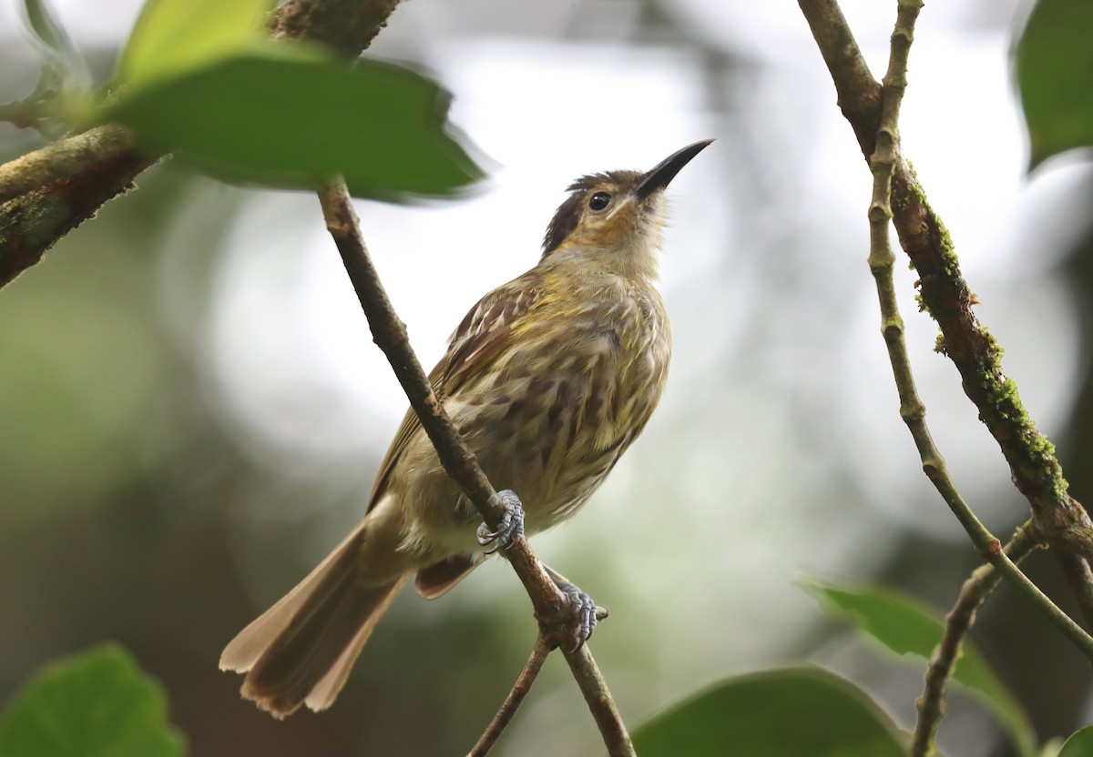
<svg viewBox="0 0 1093 757">
<path fill-rule="evenodd" d="M 1043 546 L 1035 537 L 1032 521 L 1018 528 L 1013 539 L 1006 545 L 1004 553 L 1013 563 L 1020 563 L 1034 549 Z M 987 598 L 998 588 L 1002 575 L 992 565 L 976 568 L 964 581 L 956 603 L 945 616 L 945 631 L 941 643 L 930 659 L 926 671 L 926 688 L 922 696 L 915 702 L 918 708 L 918 722 L 915 724 L 915 736 L 912 741 L 910 757 L 927 757 L 933 753 L 935 738 L 941 719 L 945 717 L 945 694 L 949 679 L 952 677 L 960 659 L 961 646 L 972 625 L 975 615 Z"/>
</svg>

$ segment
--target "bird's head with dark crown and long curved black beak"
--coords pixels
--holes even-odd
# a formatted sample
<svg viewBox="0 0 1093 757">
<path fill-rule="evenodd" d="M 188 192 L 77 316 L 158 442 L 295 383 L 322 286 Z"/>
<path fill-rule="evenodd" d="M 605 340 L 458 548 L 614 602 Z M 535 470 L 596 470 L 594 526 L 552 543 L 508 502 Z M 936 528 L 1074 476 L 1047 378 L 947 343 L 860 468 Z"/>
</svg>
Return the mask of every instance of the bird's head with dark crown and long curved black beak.
<svg viewBox="0 0 1093 757">
<path fill-rule="evenodd" d="M 687 145 L 645 173 L 612 170 L 574 181 L 546 227 L 540 263 L 572 260 L 620 275 L 656 279 L 668 215 L 665 189 L 713 141 Z"/>
</svg>

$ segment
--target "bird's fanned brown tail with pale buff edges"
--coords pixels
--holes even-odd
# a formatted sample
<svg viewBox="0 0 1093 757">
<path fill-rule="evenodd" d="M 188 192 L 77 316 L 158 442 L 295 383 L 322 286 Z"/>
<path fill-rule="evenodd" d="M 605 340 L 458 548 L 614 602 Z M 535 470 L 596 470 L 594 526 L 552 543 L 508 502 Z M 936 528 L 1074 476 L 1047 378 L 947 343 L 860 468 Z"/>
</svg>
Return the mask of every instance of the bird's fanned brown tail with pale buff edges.
<svg viewBox="0 0 1093 757">
<path fill-rule="evenodd" d="M 242 693 L 275 718 L 306 703 L 325 710 L 408 576 L 365 586 L 350 534 L 280 602 L 224 649 L 220 669 L 246 673 Z"/>
</svg>

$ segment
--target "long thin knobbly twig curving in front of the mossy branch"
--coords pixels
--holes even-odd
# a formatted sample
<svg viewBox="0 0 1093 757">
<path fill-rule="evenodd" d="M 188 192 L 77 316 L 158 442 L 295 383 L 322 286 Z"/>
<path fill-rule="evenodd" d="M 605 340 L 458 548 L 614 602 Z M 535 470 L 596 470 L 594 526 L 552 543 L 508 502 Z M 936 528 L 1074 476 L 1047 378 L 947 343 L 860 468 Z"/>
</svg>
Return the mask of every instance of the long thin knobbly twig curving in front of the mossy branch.
<svg viewBox="0 0 1093 757">
<path fill-rule="evenodd" d="M 972 537 L 979 553 L 1027 596 L 1042 613 L 1067 636 L 1091 661 L 1093 637 L 1051 602 L 1036 584 L 1021 572 L 1001 549 L 1001 543 L 976 518 L 972 508 L 956 489 L 944 459 L 938 451 L 926 424 L 926 406 L 915 389 L 915 378 L 903 338 L 903 318 L 896 301 L 892 269 L 895 253 L 889 244 L 889 222 L 892 218 L 892 176 L 898 159 L 900 103 L 906 88 L 907 55 L 914 38 L 915 19 L 922 7 L 921 0 L 900 0 L 898 17 L 892 33 L 892 55 L 889 71 L 881 88 L 881 121 L 874 139 L 875 150 L 870 156 L 873 174 L 873 193 L 869 205 L 869 269 L 877 282 L 877 297 L 881 308 L 881 331 L 888 346 L 892 372 L 900 393 L 900 415 L 903 417 L 922 461 L 922 470 L 935 488 L 949 505 L 956 520 Z"/>
</svg>

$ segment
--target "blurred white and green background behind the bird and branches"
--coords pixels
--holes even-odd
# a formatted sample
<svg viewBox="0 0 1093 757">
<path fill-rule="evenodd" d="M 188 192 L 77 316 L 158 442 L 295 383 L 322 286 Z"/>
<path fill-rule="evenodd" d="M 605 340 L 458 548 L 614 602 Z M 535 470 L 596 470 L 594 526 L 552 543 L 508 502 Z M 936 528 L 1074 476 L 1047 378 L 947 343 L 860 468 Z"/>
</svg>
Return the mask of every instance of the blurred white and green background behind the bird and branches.
<svg viewBox="0 0 1093 757">
<path fill-rule="evenodd" d="M 138 0 L 54 5 L 104 81 Z M 844 10 L 883 71 L 894 3 Z M 1026 173 L 1009 58 L 1026 12 L 925 9 L 904 147 L 1007 371 L 1089 500 L 1093 171 L 1062 157 Z M 795 586 L 881 581 L 947 607 L 976 565 L 898 417 L 865 262 L 870 177 L 796 4 L 413 0 L 369 55 L 440 80 L 492 169 L 459 201 L 359 204 L 426 367 L 479 296 L 536 262 L 569 180 L 717 138 L 671 189 L 667 397 L 589 507 L 536 548 L 610 606 L 593 649 L 630 723 L 803 659 L 910 726 L 920 666 L 879 657 Z M 2 0 L 0 100 L 28 94 L 38 68 Z M 0 125 L 0 157 L 38 139 Z M 223 644 L 356 522 L 406 401 L 313 196 L 177 162 L 139 185 L 0 292 L 0 706 L 45 661 L 116 639 L 162 681 L 197 756 L 465 754 L 534 638 L 502 563 L 439 602 L 400 596 L 327 713 L 278 723 L 216 670 Z M 1004 535 L 1027 506 L 931 352 L 913 272 L 897 276 L 935 437 Z M 1069 606 L 1049 558 L 1027 569 Z M 1088 665 L 1008 588 L 975 636 L 1042 736 L 1088 721 Z M 598 744 L 551 660 L 496 754 Z M 1009 754 L 960 694 L 941 744 Z"/>
</svg>

